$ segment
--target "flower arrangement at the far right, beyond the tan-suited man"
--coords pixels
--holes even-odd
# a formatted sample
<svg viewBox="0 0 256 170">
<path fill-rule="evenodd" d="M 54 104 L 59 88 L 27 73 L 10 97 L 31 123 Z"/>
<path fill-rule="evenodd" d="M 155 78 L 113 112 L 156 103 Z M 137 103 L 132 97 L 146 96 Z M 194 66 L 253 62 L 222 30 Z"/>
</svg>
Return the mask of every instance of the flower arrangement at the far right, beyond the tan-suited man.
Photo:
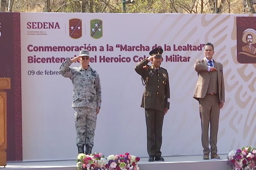
<svg viewBox="0 0 256 170">
<path fill-rule="evenodd" d="M 231 170 L 256 170 L 256 148 L 251 146 L 232 150 L 228 154 L 228 165 Z"/>
</svg>

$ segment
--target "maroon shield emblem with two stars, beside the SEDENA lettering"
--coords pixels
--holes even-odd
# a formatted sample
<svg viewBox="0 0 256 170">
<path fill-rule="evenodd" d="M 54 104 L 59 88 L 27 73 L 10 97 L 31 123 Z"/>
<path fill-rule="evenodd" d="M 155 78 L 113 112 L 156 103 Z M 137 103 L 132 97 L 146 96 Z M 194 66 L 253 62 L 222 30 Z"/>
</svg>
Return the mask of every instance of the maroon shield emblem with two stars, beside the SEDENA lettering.
<svg viewBox="0 0 256 170">
<path fill-rule="evenodd" d="M 78 18 L 69 19 L 69 36 L 80 38 L 82 36 L 82 20 Z"/>
</svg>

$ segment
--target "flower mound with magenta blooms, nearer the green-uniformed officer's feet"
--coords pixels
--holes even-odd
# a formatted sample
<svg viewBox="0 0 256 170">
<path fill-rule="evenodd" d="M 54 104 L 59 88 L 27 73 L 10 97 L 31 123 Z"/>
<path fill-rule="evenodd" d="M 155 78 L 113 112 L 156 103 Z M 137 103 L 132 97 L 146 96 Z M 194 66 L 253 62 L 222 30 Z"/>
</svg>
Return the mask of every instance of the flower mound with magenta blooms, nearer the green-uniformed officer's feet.
<svg viewBox="0 0 256 170">
<path fill-rule="evenodd" d="M 120 155 L 109 155 L 107 157 L 107 170 L 139 170 L 140 158 L 129 153 Z"/>
</svg>

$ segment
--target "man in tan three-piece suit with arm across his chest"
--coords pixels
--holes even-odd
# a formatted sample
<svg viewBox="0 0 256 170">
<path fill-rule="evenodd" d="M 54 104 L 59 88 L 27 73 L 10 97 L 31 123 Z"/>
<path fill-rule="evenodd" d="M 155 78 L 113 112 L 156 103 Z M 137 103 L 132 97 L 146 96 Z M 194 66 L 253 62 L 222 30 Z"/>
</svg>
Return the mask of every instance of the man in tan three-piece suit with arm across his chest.
<svg viewBox="0 0 256 170">
<path fill-rule="evenodd" d="M 224 79 L 222 64 L 213 60 L 214 47 L 208 42 L 204 46 L 204 58 L 196 60 L 194 69 L 198 74 L 194 98 L 199 101 L 201 125 L 202 125 L 202 145 L 203 159 L 220 159 L 217 154 L 217 134 L 219 126 L 219 113 L 224 105 Z M 209 130 L 210 123 L 210 146 Z"/>
</svg>

